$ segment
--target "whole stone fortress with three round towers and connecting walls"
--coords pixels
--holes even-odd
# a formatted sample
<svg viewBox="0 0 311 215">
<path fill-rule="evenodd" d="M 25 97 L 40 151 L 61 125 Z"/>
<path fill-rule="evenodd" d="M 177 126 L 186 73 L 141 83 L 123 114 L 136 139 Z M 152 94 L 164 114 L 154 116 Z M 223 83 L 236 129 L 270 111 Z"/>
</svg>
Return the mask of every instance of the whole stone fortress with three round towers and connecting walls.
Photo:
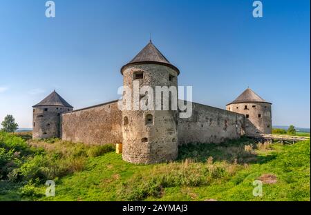
<svg viewBox="0 0 311 215">
<path fill-rule="evenodd" d="M 121 68 L 123 85 L 178 86 L 180 71 L 151 41 Z M 132 95 L 133 96 L 133 95 Z M 143 99 L 144 95 L 140 95 Z M 85 144 L 122 143 L 122 158 L 131 163 L 174 160 L 178 145 L 220 143 L 243 134 L 272 132 L 272 103 L 247 88 L 226 110 L 191 103 L 192 114 L 180 110 L 120 110 L 118 100 L 73 110 L 57 92 L 33 106 L 33 138 L 59 137 Z"/>
</svg>

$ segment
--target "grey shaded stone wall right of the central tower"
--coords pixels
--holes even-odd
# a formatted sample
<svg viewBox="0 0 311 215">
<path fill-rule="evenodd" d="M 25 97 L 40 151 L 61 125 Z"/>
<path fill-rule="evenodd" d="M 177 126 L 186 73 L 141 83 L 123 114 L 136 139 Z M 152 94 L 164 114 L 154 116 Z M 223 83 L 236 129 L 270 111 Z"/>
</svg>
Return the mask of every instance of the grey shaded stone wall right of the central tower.
<svg viewBox="0 0 311 215">
<path fill-rule="evenodd" d="M 192 103 L 192 116 L 178 121 L 178 143 L 220 143 L 244 134 L 244 116 Z"/>
</svg>

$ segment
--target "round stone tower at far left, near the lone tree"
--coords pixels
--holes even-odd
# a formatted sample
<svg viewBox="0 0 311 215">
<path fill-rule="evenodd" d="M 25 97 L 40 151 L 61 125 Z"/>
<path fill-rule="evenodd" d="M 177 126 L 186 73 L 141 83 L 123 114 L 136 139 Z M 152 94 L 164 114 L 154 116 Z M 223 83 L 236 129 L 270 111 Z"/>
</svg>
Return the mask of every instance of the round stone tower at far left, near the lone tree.
<svg viewBox="0 0 311 215">
<path fill-rule="evenodd" d="M 69 105 L 55 90 L 32 107 L 33 139 L 60 137 L 61 114 L 73 110 L 73 106 Z"/>
</svg>

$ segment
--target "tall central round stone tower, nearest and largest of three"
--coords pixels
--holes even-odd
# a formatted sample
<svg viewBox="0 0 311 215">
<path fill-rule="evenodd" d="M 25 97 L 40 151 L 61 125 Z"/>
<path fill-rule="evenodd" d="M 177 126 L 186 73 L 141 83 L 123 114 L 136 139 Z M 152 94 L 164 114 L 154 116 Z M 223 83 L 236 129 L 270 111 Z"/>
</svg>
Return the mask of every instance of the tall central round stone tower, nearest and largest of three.
<svg viewBox="0 0 311 215">
<path fill-rule="evenodd" d="M 123 96 L 122 158 L 131 163 L 158 163 L 175 159 L 178 155 L 178 107 L 171 108 L 169 105 L 167 110 L 158 110 L 155 102 L 156 86 L 174 86 L 177 92 L 178 68 L 169 63 L 150 41 L 132 61 L 121 68 L 121 73 L 124 88 L 131 90 L 131 110 L 126 110 Z M 151 102 L 146 99 L 145 93 L 135 95 L 134 88 L 137 86 L 153 89 L 153 110 L 135 109 L 139 101 L 146 104 Z M 138 99 L 135 100 L 135 96 Z M 169 96 L 169 102 L 171 98 Z M 164 96 L 161 97 L 162 104 L 163 99 Z"/>
</svg>

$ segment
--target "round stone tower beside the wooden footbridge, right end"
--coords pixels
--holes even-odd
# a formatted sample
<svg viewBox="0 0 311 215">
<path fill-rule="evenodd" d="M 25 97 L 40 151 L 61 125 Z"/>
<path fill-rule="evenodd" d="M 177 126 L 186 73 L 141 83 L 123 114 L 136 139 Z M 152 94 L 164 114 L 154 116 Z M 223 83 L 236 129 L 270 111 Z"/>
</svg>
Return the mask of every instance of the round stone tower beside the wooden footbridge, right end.
<svg viewBox="0 0 311 215">
<path fill-rule="evenodd" d="M 265 101 L 254 91 L 247 88 L 226 109 L 245 115 L 246 134 L 271 134 L 272 133 L 272 103 Z"/>
</svg>

